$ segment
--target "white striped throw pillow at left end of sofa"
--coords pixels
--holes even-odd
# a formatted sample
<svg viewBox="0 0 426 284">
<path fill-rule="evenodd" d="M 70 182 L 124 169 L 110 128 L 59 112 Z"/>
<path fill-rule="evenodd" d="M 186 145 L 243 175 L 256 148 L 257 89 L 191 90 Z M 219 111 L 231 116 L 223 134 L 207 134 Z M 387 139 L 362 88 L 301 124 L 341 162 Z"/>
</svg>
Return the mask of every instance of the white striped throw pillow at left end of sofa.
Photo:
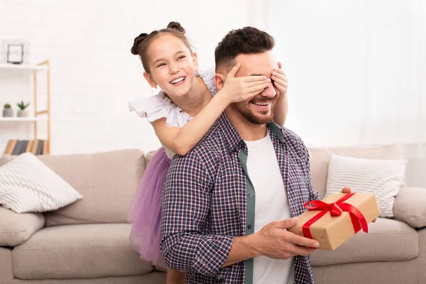
<svg viewBox="0 0 426 284">
<path fill-rule="evenodd" d="M 0 168 L 0 204 L 16 213 L 52 211 L 82 198 L 32 153 Z"/>
</svg>

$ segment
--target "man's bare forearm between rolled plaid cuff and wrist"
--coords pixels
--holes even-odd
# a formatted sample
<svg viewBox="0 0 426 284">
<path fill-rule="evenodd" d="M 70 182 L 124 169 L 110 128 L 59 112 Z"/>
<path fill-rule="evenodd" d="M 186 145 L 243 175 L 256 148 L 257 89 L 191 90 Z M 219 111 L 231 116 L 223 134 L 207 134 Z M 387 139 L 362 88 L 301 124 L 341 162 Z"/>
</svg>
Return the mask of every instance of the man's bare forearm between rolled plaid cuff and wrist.
<svg viewBox="0 0 426 284">
<path fill-rule="evenodd" d="M 231 251 L 225 263 L 222 265 L 222 268 L 259 256 L 254 244 L 253 234 L 249 236 L 236 236 L 232 241 Z"/>
</svg>

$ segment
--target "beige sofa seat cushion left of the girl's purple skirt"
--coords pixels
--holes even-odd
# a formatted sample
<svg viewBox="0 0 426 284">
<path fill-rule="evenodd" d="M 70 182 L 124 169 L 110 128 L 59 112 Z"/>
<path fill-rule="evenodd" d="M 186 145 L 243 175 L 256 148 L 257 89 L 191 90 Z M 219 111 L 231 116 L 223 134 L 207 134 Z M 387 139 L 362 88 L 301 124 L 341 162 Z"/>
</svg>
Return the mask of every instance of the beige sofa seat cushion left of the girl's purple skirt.
<svg viewBox="0 0 426 284">
<path fill-rule="evenodd" d="M 131 224 L 82 224 L 41 229 L 13 249 L 21 279 L 99 278 L 153 271 L 129 244 Z"/>
</svg>

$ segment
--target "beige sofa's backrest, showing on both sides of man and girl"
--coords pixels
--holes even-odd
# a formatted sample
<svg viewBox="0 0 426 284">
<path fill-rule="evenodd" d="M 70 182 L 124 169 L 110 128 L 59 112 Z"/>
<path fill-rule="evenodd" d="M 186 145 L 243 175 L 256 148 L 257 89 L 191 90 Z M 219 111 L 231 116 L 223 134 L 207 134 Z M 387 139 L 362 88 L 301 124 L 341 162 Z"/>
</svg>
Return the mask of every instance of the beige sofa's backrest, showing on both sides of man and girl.
<svg viewBox="0 0 426 284">
<path fill-rule="evenodd" d="M 309 148 L 312 182 L 324 197 L 328 164 L 332 153 L 355 158 L 400 159 L 402 148 L 354 146 Z M 138 182 L 155 151 L 121 150 L 79 155 L 39 155 L 38 158 L 83 195 L 82 200 L 46 212 L 46 226 L 84 223 L 126 222 L 127 212 Z M 0 166 L 13 156 L 0 159 Z"/>
</svg>

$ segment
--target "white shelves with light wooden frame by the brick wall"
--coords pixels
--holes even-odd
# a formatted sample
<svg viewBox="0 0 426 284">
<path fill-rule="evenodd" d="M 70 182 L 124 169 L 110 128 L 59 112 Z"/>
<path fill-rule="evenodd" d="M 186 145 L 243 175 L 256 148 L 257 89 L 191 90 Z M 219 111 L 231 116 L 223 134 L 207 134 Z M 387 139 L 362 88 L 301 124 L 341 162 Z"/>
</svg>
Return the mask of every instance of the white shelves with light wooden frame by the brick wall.
<svg viewBox="0 0 426 284">
<path fill-rule="evenodd" d="M 50 154 L 50 60 L 45 60 L 35 65 L 14 65 L 14 64 L 0 64 L 0 71 L 16 71 L 16 72 L 32 72 L 34 76 L 34 116 L 33 117 L 0 117 L 0 123 L 4 122 L 30 122 L 34 124 L 34 139 L 38 139 L 38 122 L 45 122 L 48 124 L 48 154 Z M 37 75 L 40 72 L 46 73 L 46 80 L 48 84 L 48 104 L 46 109 L 38 110 L 38 93 L 37 93 Z"/>
</svg>

